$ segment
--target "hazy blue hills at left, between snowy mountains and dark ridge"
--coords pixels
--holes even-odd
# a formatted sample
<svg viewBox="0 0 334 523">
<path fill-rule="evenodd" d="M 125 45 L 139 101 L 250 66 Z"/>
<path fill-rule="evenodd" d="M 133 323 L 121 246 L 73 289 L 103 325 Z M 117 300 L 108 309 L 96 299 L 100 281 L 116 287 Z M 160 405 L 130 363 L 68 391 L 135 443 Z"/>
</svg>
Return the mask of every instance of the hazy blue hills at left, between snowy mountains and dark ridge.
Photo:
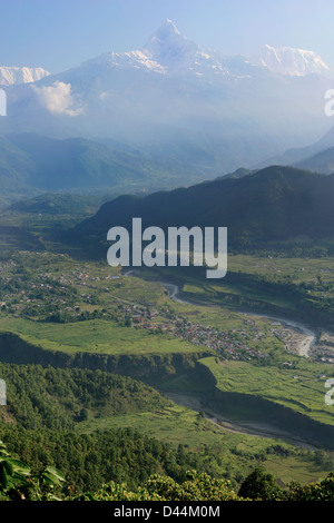
<svg viewBox="0 0 334 523">
<path fill-rule="evenodd" d="M 33 132 L 0 136 L 2 207 L 46 191 L 153 191 L 190 185 L 219 172 L 200 144 L 183 149 L 180 141 L 165 158 L 114 140 L 57 139 Z"/>
</svg>

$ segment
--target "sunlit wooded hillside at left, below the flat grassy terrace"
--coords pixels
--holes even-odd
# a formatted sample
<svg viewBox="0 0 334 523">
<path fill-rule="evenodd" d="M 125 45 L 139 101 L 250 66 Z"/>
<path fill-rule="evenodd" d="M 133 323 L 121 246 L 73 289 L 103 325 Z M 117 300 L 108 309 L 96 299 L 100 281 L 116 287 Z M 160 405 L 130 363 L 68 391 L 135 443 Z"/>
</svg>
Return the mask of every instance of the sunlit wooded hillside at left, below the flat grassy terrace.
<svg viewBox="0 0 334 523">
<path fill-rule="evenodd" d="M 127 376 L 99 369 L 62 369 L 0 363 L 8 415 L 29 430 L 72 431 L 75 423 L 102 415 L 155 409 L 169 402 Z"/>
</svg>

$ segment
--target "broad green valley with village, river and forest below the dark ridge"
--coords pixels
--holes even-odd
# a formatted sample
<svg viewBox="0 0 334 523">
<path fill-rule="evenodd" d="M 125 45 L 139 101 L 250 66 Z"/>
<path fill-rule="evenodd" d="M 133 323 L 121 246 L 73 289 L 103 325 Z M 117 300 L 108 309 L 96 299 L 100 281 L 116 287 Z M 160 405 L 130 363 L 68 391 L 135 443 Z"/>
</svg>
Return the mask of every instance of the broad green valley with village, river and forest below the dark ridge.
<svg viewBox="0 0 334 523">
<path fill-rule="evenodd" d="M 121 270 L 92 229 L 71 243 L 98 205 L 46 195 L 2 214 L 23 231 L 2 236 L 0 267 L 10 452 L 56 466 L 80 495 L 156 473 L 185 481 L 190 468 L 236 490 L 258 465 L 284 489 L 326 477 L 331 254 L 302 240 L 232 249 L 222 280 L 197 267 Z"/>
</svg>

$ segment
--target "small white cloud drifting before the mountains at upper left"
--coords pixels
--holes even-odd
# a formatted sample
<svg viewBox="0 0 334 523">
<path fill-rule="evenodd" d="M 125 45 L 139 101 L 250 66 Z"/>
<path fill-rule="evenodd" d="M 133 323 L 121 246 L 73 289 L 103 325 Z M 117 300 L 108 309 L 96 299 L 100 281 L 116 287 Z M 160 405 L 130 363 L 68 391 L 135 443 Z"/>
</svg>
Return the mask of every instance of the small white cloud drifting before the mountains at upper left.
<svg viewBox="0 0 334 523">
<path fill-rule="evenodd" d="M 63 81 L 55 81 L 51 86 L 31 86 L 38 95 L 39 102 L 53 115 L 78 116 L 82 108 L 77 107 L 71 93 L 71 85 Z"/>
</svg>

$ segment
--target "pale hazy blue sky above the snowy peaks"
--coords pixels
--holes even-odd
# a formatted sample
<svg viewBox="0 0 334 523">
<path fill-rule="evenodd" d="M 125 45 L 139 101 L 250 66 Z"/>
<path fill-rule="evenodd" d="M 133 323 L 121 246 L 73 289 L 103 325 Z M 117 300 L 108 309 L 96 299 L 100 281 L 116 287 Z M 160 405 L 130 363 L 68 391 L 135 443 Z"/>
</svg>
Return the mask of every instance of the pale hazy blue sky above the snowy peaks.
<svg viewBox="0 0 334 523">
<path fill-rule="evenodd" d="M 59 72 L 106 51 L 140 49 L 167 18 L 205 48 L 262 45 L 318 52 L 334 69 L 333 0 L 0 0 L 0 66 Z"/>
</svg>

